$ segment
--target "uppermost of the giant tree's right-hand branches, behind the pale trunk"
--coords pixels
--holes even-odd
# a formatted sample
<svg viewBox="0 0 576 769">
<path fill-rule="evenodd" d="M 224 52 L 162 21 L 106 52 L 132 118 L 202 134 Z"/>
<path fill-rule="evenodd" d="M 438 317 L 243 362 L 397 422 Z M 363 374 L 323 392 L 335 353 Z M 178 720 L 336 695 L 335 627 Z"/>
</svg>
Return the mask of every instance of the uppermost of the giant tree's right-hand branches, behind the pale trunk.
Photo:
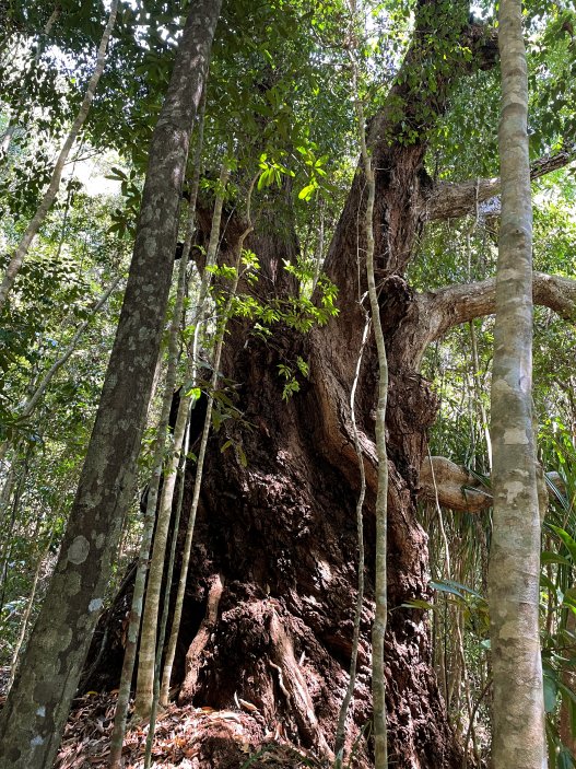
<svg viewBox="0 0 576 769">
<path fill-rule="evenodd" d="M 540 158 L 530 166 L 530 178 L 563 168 L 576 158 L 576 148 L 569 145 L 555 155 Z M 428 221 L 456 219 L 479 211 L 481 203 L 490 200 L 499 193 L 499 177 L 490 179 L 471 179 L 455 184 L 440 182 L 436 184 L 432 195 L 422 203 L 422 219 Z M 499 209 L 499 207 L 498 207 Z"/>
</svg>

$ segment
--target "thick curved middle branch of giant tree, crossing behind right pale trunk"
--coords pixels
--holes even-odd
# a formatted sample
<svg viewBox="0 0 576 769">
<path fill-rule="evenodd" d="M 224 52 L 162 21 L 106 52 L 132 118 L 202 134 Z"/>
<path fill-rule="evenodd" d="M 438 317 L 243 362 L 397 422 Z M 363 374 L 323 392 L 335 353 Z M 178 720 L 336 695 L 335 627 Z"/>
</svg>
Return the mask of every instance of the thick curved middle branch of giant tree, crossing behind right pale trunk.
<svg viewBox="0 0 576 769">
<path fill-rule="evenodd" d="M 576 322 L 576 280 L 534 272 L 532 296 L 534 304 L 550 307 L 565 321 Z M 427 345 L 452 326 L 495 312 L 496 280 L 487 278 L 430 291 L 416 296 L 415 304 L 418 319 L 413 343 L 416 360 L 420 360 Z"/>
</svg>

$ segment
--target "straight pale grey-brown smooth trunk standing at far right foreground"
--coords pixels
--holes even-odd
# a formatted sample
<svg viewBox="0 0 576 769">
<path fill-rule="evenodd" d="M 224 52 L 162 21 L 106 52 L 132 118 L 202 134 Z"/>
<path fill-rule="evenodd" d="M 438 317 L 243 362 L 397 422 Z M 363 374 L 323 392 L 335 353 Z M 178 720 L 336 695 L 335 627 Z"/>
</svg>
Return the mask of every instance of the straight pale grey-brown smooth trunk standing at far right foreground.
<svg viewBox="0 0 576 769">
<path fill-rule="evenodd" d="M 532 426 L 532 212 L 521 3 L 502 0 L 498 246 L 489 601 L 495 769 L 546 766 L 539 636 L 540 512 Z"/>
</svg>

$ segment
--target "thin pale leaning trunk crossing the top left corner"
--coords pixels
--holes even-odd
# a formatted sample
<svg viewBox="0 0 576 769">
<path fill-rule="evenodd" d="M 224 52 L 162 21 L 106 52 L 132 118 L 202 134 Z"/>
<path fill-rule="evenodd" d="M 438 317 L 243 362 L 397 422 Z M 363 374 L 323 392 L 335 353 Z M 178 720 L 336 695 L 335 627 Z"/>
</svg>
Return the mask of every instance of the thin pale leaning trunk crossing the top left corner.
<svg viewBox="0 0 576 769">
<path fill-rule="evenodd" d="M 58 155 L 58 160 L 56 161 L 56 165 L 52 171 L 52 177 L 50 179 L 50 184 L 48 185 L 48 189 L 46 190 L 42 203 L 38 206 L 38 209 L 36 213 L 34 214 L 34 218 L 32 219 L 31 223 L 26 228 L 26 231 L 24 235 L 22 236 L 22 240 L 14 252 L 12 258 L 10 259 L 10 263 L 7 267 L 7 271 L 4 275 L 4 278 L 2 280 L 2 283 L 0 286 L 0 312 L 2 312 L 2 308 L 5 304 L 7 296 L 9 291 L 11 290 L 12 286 L 14 284 L 14 281 L 16 279 L 16 276 L 20 271 L 20 268 L 22 267 L 22 263 L 24 261 L 24 257 L 28 253 L 28 248 L 32 245 L 33 240 L 36 237 L 38 230 L 40 229 L 42 223 L 46 219 L 46 214 L 50 210 L 51 205 L 54 203 L 56 196 L 58 195 L 58 190 L 60 189 L 60 180 L 62 178 L 62 171 L 66 164 L 66 161 L 68 160 L 68 155 L 70 154 L 70 150 L 72 149 L 74 141 L 77 140 L 77 137 L 80 132 L 80 129 L 84 125 L 84 121 L 89 115 L 90 107 L 92 105 L 92 102 L 94 101 L 94 94 L 96 93 L 96 88 L 98 85 L 98 81 L 101 79 L 101 75 L 104 71 L 104 61 L 105 61 L 105 56 L 106 56 L 106 48 L 108 47 L 108 40 L 110 39 L 111 31 L 114 27 L 114 24 L 116 22 L 116 13 L 118 11 L 118 0 L 113 0 L 111 7 L 110 7 L 110 15 L 108 16 L 108 22 L 106 24 L 106 27 L 104 30 L 104 34 L 102 35 L 101 44 L 98 47 L 98 55 L 96 58 L 96 67 L 94 68 L 94 72 L 92 73 L 92 78 L 90 79 L 89 86 L 86 89 L 86 93 L 84 95 L 84 98 L 82 101 L 82 105 L 80 106 L 79 113 L 75 117 L 74 123 L 72 124 L 72 128 L 70 129 L 70 133 L 68 135 L 62 149 L 60 150 L 60 154 Z"/>
</svg>

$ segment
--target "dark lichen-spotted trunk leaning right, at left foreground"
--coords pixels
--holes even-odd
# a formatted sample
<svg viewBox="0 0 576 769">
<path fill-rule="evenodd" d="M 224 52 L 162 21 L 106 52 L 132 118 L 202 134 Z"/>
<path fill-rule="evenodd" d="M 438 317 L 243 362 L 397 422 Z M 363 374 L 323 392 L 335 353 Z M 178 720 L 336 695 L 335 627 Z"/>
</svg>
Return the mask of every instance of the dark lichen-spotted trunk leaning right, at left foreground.
<svg viewBox="0 0 576 769">
<path fill-rule="evenodd" d="M 189 12 L 154 129 L 118 333 L 70 522 L 19 677 L 0 715 L 0 765 L 51 765 L 132 497 L 168 300 L 188 145 L 221 0 Z"/>
</svg>

